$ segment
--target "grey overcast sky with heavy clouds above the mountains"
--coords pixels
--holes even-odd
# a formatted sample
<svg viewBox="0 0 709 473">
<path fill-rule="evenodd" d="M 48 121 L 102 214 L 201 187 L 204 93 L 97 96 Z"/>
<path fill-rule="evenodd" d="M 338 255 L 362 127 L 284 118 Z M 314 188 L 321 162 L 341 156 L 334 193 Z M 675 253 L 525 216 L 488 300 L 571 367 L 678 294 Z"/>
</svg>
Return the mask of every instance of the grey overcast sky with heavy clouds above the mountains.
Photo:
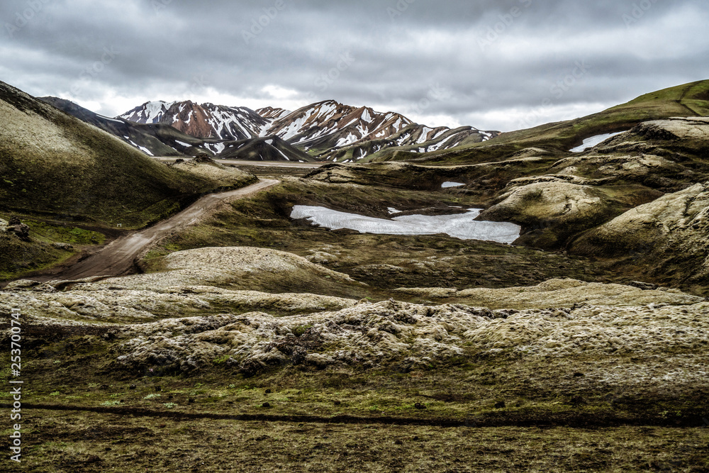
<svg viewBox="0 0 709 473">
<path fill-rule="evenodd" d="M 0 80 L 116 116 L 325 99 L 513 130 L 709 79 L 706 0 L 2 0 Z"/>
</svg>

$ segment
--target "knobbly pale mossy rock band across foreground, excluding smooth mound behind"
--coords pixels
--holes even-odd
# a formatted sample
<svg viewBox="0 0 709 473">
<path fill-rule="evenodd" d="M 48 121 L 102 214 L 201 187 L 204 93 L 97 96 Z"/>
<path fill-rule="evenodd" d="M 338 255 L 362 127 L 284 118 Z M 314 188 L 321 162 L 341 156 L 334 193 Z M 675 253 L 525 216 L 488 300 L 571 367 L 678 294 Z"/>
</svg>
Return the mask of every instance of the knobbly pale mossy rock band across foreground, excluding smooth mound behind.
<svg viewBox="0 0 709 473">
<path fill-rule="evenodd" d="M 554 291 L 555 284 L 558 285 L 549 285 L 547 293 Z M 113 341 L 106 360 L 108 367 L 130 372 L 155 369 L 192 373 L 218 365 L 245 376 L 291 366 L 386 367 L 408 372 L 442 366 L 461 357 L 523 357 L 529 362 L 532 358 L 567 359 L 579 354 L 603 359 L 641 353 L 644 357 L 664 357 L 672 352 L 683 357 L 683 365 L 691 372 L 699 373 L 695 368 L 705 360 L 709 345 L 705 336 L 709 330 L 709 303 L 697 303 L 673 293 L 667 294 L 665 300 L 671 301 L 674 295 L 678 301 L 694 304 L 582 304 L 572 308 L 493 311 L 460 304 L 347 301 L 339 310 L 311 308 L 296 316 L 274 316 L 262 311 L 208 315 L 207 306 L 213 304 L 213 298 L 235 296 L 214 289 L 192 288 L 194 294 L 177 288 L 174 292 L 128 291 L 115 286 L 97 290 L 102 285 L 94 283 L 58 293 L 40 288 L 5 291 L 0 310 L 23 304 L 28 308 L 23 317 L 33 326 L 110 330 Z M 281 301 L 294 297 L 250 296 L 255 301 L 262 298 L 267 304 L 279 297 Z M 109 301 L 110 297 L 120 300 L 126 311 L 172 311 L 174 315 L 201 311 L 201 315 L 157 321 L 145 316 L 143 323 L 127 325 L 97 322 L 90 314 L 110 310 L 99 306 L 99 299 Z M 312 303 L 321 296 L 300 297 L 301 301 Z M 323 301 L 320 299 L 320 303 Z M 188 309 L 190 304 L 201 307 Z M 700 377 L 694 381 L 699 382 Z"/>
</svg>

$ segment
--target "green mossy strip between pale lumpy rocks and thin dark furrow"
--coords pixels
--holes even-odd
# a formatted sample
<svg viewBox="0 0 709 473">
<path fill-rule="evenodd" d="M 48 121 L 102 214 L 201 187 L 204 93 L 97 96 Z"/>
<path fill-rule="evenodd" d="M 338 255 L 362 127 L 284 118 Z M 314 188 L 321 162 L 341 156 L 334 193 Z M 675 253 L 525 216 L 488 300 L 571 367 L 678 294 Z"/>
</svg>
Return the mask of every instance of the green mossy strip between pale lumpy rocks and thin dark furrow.
<svg viewBox="0 0 709 473">
<path fill-rule="evenodd" d="M 160 365 L 127 370 L 115 362 L 125 340 L 108 335 L 118 326 L 61 336 L 33 335 L 32 327 L 23 328 L 28 381 L 23 402 L 175 416 L 286 416 L 298 421 L 345 416 L 385 424 L 396 418 L 398 423 L 482 426 L 700 426 L 709 416 L 704 386 L 677 374 L 698 355 L 694 352 L 667 353 L 658 360 L 641 354 L 544 358 L 471 351 L 414 371 L 396 365 L 284 365 L 247 377 L 226 365 L 225 358 L 191 373 L 164 372 Z M 9 359 L 3 355 L 2 360 L 0 381 L 7 385 Z M 648 378 L 666 373 L 667 379 L 649 383 L 637 375 L 625 381 L 618 377 L 638 370 Z M 671 373 L 676 373 L 674 381 Z"/>
</svg>

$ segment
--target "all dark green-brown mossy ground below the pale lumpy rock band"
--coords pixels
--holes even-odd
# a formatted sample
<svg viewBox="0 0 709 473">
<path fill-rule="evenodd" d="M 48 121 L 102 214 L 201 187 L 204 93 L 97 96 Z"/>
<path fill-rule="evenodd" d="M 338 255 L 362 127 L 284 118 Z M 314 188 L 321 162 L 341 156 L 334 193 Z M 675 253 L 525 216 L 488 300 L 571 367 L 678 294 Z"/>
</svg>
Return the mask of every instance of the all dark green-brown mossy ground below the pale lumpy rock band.
<svg viewBox="0 0 709 473">
<path fill-rule="evenodd" d="M 89 332 L 23 327 L 24 461 L 7 471 L 709 468 L 699 387 L 598 380 L 622 366 L 673 371 L 654 356 L 471 356 L 413 372 L 289 365 L 247 378 L 218 359 L 191 375 L 121 371 L 121 340 Z M 6 354 L 1 366 L 9 386 Z"/>
</svg>

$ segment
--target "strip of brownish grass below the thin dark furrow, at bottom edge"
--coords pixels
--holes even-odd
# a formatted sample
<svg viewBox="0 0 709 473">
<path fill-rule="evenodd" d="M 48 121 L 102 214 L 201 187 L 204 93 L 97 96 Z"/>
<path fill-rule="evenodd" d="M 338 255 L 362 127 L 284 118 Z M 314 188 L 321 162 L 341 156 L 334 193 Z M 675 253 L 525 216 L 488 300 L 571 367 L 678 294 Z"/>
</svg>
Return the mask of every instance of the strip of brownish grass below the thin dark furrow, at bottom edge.
<svg viewBox="0 0 709 473">
<path fill-rule="evenodd" d="M 709 430 L 182 421 L 28 411 L 26 472 L 705 472 Z M 2 462 L 6 462 L 5 459 Z"/>
</svg>

